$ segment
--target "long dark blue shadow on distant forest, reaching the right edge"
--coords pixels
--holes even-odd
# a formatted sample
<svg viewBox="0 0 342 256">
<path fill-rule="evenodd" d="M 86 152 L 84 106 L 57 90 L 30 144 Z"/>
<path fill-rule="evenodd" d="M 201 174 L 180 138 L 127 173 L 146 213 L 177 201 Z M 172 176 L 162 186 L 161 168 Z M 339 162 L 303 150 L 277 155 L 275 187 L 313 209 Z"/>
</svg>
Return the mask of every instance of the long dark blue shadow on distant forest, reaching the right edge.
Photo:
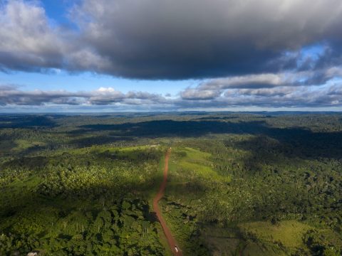
<svg viewBox="0 0 342 256">
<path fill-rule="evenodd" d="M 207 134 L 252 134 L 257 137 L 236 144 L 238 148 L 259 154 L 269 150 L 264 137 L 276 139 L 273 151 L 279 151 L 287 157 L 316 159 L 326 157 L 341 159 L 342 132 L 311 132 L 303 128 L 270 127 L 264 121 L 219 122 L 219 121 L 174 121 L 160 120 L 125 124 L 83 125 L 73 133 L 107 131 L 124 137 L 199 137 Z M 94 139 L 95 140 L 95 139 Z M 265 154 L 267 155 L 267 154 Z"/>
</svg>

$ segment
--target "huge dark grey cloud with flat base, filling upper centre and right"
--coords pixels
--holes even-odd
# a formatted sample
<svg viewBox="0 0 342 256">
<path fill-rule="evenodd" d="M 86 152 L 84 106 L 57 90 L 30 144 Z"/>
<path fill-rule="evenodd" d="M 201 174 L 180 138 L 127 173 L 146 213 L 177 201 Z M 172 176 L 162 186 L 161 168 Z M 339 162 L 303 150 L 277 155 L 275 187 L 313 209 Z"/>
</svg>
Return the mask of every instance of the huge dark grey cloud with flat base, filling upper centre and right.
<svg viewBox="0 0 342 256">
<path fill-rule="evenodd" d="M 339 0 L 85 0 L 75 16 L 87 43 L 111 64 L 107 73 L 211 78 L 304 68 L 301 48 L 316 43 L 326 51 L 315 65 L 331 65 L 341 6 Z"/>
</svg>

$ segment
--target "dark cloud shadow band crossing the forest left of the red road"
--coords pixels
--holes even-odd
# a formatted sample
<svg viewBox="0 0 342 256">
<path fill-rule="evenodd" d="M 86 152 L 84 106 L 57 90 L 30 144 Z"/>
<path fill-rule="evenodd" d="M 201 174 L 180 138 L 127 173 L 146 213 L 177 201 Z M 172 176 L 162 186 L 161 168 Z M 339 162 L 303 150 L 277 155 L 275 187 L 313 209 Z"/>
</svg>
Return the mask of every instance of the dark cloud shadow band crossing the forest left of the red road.
<svg viewBox="0 0 342 256">
<path fill-rule="evenodd" d="M 33 177 L 33 176 L 32 176 Z M 30 178 L 28 177 L 28 180 Z M 25 215 L 36 215 L 44 210 L 46 215 L 59 219 L 61 213 L 67 215 L 75 210 L 103 210 L 105 207 L 115 206 L 118 201 L 135 200 L 140 198 L 145 201 L 146 193 L 157 193 L 157 188 L 162 180 L 162 174 L 145 178 L 143 183 L 132 181 L 130 178 L 120 178 L 113 183 L 101 183 L 98 185 L 84 185 L 80 187 L 67 187 L 63 183 L 46 189 L 45 183 L 40 183 L 33 188 L 18 191 L 16 187 L 4 186 L 4 191 L 10 191 L 6 199 L 1 202 L 0 218 L 20 217 Z M 5 190 L 6 188 L 6 190 Z M 1 191 L 1 189 L 0 189 Z M 145 219 L 152 222 L 157 221 L 148 203 L 144 206 Z M 43 220 L 42 220 L 43 221 Z M 10 226 L 9 226 L 9 231 Z"/>
</svg>

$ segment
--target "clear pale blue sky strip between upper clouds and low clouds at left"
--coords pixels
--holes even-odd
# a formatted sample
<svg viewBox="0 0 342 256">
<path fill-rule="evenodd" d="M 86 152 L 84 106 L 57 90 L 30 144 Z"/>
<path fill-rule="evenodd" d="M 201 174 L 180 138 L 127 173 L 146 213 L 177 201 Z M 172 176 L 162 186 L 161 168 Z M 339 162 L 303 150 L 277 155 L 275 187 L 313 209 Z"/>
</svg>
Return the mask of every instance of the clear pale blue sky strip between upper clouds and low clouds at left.
<svg viewBox="0 0 342 256">
<path fill-rule="evenodd" d="M 115 78 L 111 75 L 95 73 L 68 73 L 59 71 L 53 73 L 28 73 L 16 71 L 0 73 L 2 84 L 19 85 L 21 90 L 96 90 L 99 87 L 113 87 L 121 92 L 133 90 L 148 91 L 165 95 L 177 95 L 185 87 L 196 84 L 196 80 L 138 80 Z"/>
</svg>

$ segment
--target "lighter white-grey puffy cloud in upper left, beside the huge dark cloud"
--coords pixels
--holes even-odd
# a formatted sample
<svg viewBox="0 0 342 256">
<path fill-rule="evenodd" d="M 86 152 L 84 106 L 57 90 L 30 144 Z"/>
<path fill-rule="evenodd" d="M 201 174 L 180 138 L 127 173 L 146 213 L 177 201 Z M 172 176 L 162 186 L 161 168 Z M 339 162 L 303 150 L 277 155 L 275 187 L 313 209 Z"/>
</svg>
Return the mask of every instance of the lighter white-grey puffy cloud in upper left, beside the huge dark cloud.
<svg viewBox="0 0 342 256">
<path fill-rule="evenodd" d="M 0 70 L 105 73 L 110 65 L 77 31 L 51 21 L 38 1 L 0 5 Z"/>
</svg>

